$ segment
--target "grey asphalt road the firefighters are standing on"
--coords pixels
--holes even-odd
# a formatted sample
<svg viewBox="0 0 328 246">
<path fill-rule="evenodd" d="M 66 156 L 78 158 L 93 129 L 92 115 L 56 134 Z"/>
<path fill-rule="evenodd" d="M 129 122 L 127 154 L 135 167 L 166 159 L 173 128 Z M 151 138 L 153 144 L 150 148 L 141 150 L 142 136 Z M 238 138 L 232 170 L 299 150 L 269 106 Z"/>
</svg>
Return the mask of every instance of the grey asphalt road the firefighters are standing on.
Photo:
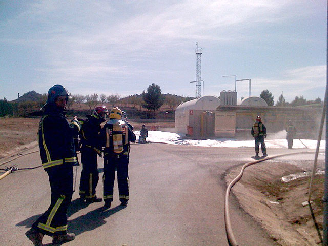
<svg viewBox="0 0 328 246">
<path fill-rule="evenodd" d="M 268 153 L 291 151 L 297 150 L 272 149 Z M 68 231 L 75 233 L 76 239 L 64 245 L 228 245 L 223 218 L 224 172 L 251 161 L 252 155 L 253 148 L 133 144 L 129 204 L 119 206 L 116 184 L 114 201 L 108 210 L 103 209 L 103 202 L 80 202 L 79 167 L 68 212 Z M 101 197 L 103 160 L 99 158 L 98 163 L 97 194 Z M 23 156 L 6 166 L 13 164 L 19 168 L 38 166 L 39 153 Z M 43 168 L 16 171 L 0 180 L 0 194 L 0 245 L 32 245 L 24 233 L 49 206 L 46 172 Z M 234 197 L 230 207 L 234 235 L 240 245 L 276 245 L 239 208 Z M 51 237 L 45 236 L 43 242 L 51 245 Z"/>
</svg>

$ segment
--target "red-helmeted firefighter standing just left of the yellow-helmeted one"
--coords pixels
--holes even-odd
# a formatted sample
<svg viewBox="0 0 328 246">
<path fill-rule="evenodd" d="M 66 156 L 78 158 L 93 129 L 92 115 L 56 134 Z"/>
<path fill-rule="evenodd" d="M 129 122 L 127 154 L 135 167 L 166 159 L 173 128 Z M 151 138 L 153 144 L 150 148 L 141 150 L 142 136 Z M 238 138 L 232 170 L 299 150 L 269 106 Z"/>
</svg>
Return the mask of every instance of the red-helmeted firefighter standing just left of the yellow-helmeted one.
<svg viewBox="0 0 328 246">
<path fill-rule="evenodd" d="M 80 138 L 82 142 L 82 172 L 79 195 L 87 202 L 101 201 L 97 199 L 96 187 L 99 181 L 97 155 L 101 157 L 101 144 L 99 133 L 100 124 L 105 122 L 108 110 L 105 106 L 98 106 L 82 124 Z"/>
</svg>

